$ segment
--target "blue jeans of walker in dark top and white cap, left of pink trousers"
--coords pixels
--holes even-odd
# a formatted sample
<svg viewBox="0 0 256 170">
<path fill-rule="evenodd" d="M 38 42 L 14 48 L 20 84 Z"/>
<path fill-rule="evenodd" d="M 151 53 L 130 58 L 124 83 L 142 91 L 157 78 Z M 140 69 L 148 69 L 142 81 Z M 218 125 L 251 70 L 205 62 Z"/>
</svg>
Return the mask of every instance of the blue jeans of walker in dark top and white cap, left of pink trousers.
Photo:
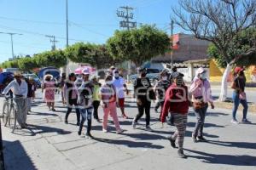
<svg viewBox="0 0 256 170">
<path fill-rule="evenodd" d="M 81 120 L 80 126 L 79 126 L 79 133 L 82 132 L 84 122 L 85 122 L 86 119 L 87 119 L 87 133 L 90 133 L 92 107 L 80 109 L 80 114 L 82 115 L 82 120 Z"/>
</svg>

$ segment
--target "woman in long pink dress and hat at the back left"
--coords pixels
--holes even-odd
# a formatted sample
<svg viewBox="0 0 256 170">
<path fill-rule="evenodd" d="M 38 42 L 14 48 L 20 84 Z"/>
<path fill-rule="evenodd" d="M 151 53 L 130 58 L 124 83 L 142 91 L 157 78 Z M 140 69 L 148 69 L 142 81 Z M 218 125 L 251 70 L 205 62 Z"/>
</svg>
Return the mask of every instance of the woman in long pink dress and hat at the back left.
<svg viewBox="0 0 256 170">
<path fill-rule="evenodd" d="M 49 110 L 55 111 L 55 82 L 51 75 L 47 75 L 44 79 L 44 101 Z"/>
</svg>

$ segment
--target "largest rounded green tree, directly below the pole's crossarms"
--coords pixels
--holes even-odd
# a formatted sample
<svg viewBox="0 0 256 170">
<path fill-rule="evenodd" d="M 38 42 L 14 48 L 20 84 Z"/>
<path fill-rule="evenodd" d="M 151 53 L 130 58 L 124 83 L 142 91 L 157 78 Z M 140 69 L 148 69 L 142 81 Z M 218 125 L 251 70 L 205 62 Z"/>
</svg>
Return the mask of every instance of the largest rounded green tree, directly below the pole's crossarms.
<svg viewBox="0 0 256 170">
<path fill-rule="evenodd" d="M 159 54 L 165 54 L 170 48 L 170 39 L 166 32 L 155 26 L 142 26 L 131 31 L 115 31 L 107 42 L 109 54 L 113 59 L 131 60 L 135 65 Z"/>
</svg>

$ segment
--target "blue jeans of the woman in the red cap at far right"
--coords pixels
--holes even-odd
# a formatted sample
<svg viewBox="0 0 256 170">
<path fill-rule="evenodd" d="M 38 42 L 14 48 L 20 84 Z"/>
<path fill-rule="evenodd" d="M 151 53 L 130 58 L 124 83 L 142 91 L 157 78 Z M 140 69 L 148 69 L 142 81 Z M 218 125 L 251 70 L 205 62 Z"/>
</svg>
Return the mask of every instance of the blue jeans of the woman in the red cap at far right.
<svg viewBox="0 0 256 170">
<path fill-rule="evenodd" d="M 232 111 L 233 119 L 236 120 L 236 111 L 237 111 L 238 106 L 239 106 L 240 103 L 243 106 L 243 111 L 242 111 L 243 116 L 242 116 L 242 118 L 246 119 L 247 118 L 247 111 L 248 111 L 247 100 L 246 99 L 239 99 L 239 94 L 237 94 L 236 92 L 233 92 L 232 99 L 233 99 L 233 102 L 234 102 L 233 111 Z"/>
</svg>

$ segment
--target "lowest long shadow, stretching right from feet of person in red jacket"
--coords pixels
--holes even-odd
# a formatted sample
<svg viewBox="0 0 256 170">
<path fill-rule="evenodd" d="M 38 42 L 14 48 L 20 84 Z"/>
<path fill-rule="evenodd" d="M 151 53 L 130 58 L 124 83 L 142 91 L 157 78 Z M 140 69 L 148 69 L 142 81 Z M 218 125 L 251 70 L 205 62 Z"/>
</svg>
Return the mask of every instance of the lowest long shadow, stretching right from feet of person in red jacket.
<svg viewBox="0 0 256 170">
<path fill-rule="evenodd" d="M 216 155 L 205 153 L 197 150 L 187 150 L 191 153 L 195 153 L 199 156 L 189 156 L 195 159 L 199 159 L 205 163 L 211 164 L 223 164 L 223 165 L 235 165 L 235 166 L 256 166 L 256 161 L 254 156 L 231 156 L 231 155 Z"/>
</svg>

